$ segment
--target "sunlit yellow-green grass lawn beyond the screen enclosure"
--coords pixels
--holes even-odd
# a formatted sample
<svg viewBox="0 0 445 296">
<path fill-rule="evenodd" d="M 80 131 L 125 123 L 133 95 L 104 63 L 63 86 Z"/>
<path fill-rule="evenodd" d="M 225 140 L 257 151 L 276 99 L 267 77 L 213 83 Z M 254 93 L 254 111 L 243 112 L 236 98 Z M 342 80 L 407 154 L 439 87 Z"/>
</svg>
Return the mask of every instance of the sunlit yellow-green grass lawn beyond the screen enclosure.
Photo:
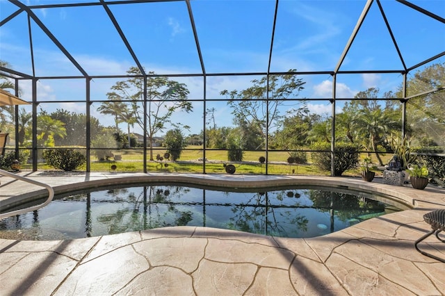
<svg viewBox="0 0 445 296">
<path fill-rule="evenodd" d="M 153 157 L 156 155 L 163 156 L 166 149 L 155 148 Z M 98 161 L 94 156 L 91 158 L 92 172 L 110 172 L 111 166 L 116 165 L 116 172 L 144 172 L 143 167 L 143 150 L 142 149 L 122 149 L 115 150 L 113 154 L 122 156 L 120 161 Z M 264 151 L 245 151 L 243 154 L 243 162 L 232 163 L 236 167 L 235 174 L 266 174 L 266 164 L 259 163 L 259 157 L 266 156 Z M 360 158 L 364 158 L 363 154 Z M 391 156 L 382 156 L 384 161 L 389 161 Z M 147 151 L 147 159 L 149 158 L 149 151 Z M 181 172 L 181 173 L 202 173 L 204 172 L 204 152 L 200 146 L 188 146 L 181 154 L 178 161 L 147 161 L 147 172 Z M 227 151 L 224 150 L 207 150 L 205 158 L 206 173 L 226 174 L 225 163 L 227 161 Z M 330 172 L 320 170 L 315 165 L 312 165 L 310 160 L 310 153 L 308 153 L 307 164 L 289 164 L 287 163 L 289 153 L 286 151 L 269 151 L 268 153 L 268 174 L 289 174 L 289 175 L 315 175 L 315 176 L 329 176 Z M 377 163 L 375 157 L 373 162 Z M 22 165 L 22 170 L 31 170 L 31 165 Z M 39 163 L 38 170 L 54 170 L 46 163 Z M 85 171 L 86 165 L 79 167 L 79 171 Z M 348 170 L 343 173 L 343 176 L 359 176 L 360 169 Z M 381 176 L 381 172 L 377 172 L 377 176 Z"/>
</svg>

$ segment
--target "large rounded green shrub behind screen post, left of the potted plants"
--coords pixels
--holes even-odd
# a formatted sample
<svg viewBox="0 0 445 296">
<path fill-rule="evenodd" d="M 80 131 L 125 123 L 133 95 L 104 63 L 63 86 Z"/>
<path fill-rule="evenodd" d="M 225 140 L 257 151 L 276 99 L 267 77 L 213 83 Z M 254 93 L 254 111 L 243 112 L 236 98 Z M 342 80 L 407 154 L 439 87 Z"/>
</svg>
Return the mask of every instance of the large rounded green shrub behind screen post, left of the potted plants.
<svg viewBox="0 0 445 296">
<path fill-rule="evenodd" d="M 314 150 L 330 150 L 330 144 L 317 144 Z M 312 161 L 321 170 L 331 170 L 330 151 L 312 153 Z M 359 149 L 355 145 L 338 143 L 335 145 L 334 176 L 341 176 L 346 170 L 353 169 L 359 163 Z"/>
</svg>

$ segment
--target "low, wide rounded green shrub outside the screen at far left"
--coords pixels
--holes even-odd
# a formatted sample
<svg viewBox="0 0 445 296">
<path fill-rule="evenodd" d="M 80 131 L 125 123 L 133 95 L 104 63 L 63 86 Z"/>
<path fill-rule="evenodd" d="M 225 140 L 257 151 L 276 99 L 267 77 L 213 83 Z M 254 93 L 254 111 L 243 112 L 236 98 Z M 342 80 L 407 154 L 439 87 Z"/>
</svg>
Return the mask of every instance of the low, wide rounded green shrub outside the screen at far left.
<svg viewBox="0 0 445 296">
<path fill-rule="evenodd" d="M 43 158 L 48 165 L 64 171 L 76 170 L 86 163 L 85 156 L 74 149 L 45 149 Z"/>
</svg>

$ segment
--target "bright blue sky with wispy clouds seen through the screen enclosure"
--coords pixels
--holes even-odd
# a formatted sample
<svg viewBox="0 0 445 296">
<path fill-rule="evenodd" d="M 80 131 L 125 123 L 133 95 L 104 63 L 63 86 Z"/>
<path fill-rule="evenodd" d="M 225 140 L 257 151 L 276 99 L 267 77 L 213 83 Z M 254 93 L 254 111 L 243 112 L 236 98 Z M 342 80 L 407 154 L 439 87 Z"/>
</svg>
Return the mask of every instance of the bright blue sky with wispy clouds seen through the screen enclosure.
<svg viewBox="0 0 445 296">
<path fill-rule="evenodd" d="M 98 0 L 20 0 L 28 5 L 54 3 L 90 3 Z M 411 0 L 416 6 L 445 17 L 443 0 Z M 280 0 L 270 71 L 332 71 L 365 6 L 364 0 Z M 445 25 L 394 0 L 382 0 L 389 25 L 407 67 L 445 51 Z M 119 22 L 140 63 L 156 74 L 200 74 L 191 20 L 184 1 L 137 3 L 108 6 Z M 275 1 L 270 0 L 192 0 L 191 9 L 207 74 L 266 72 L 270 54 Z M 0 0 L 0 19 L 17 7 Z M 102 6 L 79 8 L 36 8 L 44 26 L 70 52 L 90 75 L 125 74 L 136 65 Z M 0 26 L 0 60 L 13 69 L 32 74 L 28 19 L 17 15 Z M 70 60 L 54 45 L 35 22 L 31 21 L 33 55 L 37 76 L 81 75 Z M 443 62 L 444 58 L 436 60 Z M 403 69 L 400 58 L 385 27 L 378 4 L 371 10 L 348 51 L 341 70 Z M 207 98 L 220 98 L 221 90 L 243 90 L 255 76 L 208 77 Z M 332 77 L 327 74 L 302 76 L 306 82 L 300 97 L 330 98 Z M 191 98 L 203 97 L 202 78 L 178 78 L 188 85 Z M 95 79 L 92 99 L 106 99 L 115 81 Z M 337 77 L 337 97 L 353 97 L 370 87 L 382 92 L 401 85 L 399 74 L 355 74 Z M 22 97 L 31 99 L 31 84 L 20 85 Z M 67 91 L 69 89 L 69 91 Z M 40 100 L 83 99 L 84 81 L 41 80 Z M 215 104 L 219 125 L 226 125 L 229 112 L 225 104 Z M 196 104 L 202 110 L 202 104 Z M 84 104 L 60 104 L 58 108 L 83 112 Z M 330 112 L 330 104 L 309 101 L 316 113 Z M 93 113 L 99 117 L 98 114 Z M 185 116 L 191 124 L 194 116 Z M 202 124 L 202 121 L 199 121 Z M 191 125 L 189 124 L 189 125 Z M 123 126 L 122 126 L 123 127 Z M 195 131 L 199 132 L 199 131 Z"/>
</svg>

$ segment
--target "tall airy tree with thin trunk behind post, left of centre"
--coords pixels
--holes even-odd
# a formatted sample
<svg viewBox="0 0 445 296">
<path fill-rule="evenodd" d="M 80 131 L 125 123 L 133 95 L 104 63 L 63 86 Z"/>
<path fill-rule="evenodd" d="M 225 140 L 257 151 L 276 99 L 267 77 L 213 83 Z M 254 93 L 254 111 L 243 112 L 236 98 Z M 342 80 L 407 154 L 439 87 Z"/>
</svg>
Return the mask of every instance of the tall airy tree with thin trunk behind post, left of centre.
<svg viewBox="0 0 445 296">
<path fill-rule="evenodd" d="M 140 77 L 142 73 L 137 67 L 130 67 L 127 74 L 131 78 L 126 81 L 118 81 L 111 88 L 108 97 L 119 100 L 131 101 L 131 114 L 141 129 L 144 129 L 144 79 Z M 189 92 L 184 83 L 171 81 L 168 77 L 154 76 L 154 72 L 149 72 L 147 77 L 147 129 L 145 134 L 149 140 L 150 161 L 153 161 L 154 135 L 163 131 L 170 121 L 173 113 L 177 110 L 184 110 L 187 113 L 193 110 L 190 101 L 187 101 Z M 179 125 L 177 123 L 176 125 Z M 184 126 L 188 128 L 188 126 Z"/>
</svg>

